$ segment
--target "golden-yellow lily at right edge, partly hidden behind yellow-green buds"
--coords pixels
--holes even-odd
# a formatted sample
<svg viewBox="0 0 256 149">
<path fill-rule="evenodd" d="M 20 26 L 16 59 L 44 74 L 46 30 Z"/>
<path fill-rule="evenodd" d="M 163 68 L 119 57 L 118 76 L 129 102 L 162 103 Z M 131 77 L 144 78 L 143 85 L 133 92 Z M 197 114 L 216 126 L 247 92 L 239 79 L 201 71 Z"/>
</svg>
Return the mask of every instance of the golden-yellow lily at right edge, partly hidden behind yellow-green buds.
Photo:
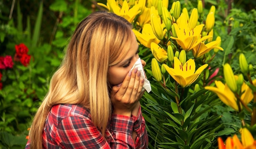
<svg viewBox="0 0 256 149">
<path fill-rule="evenodd" d="M 238 76 L 235 76 L 235 79 L 237 80 Z M 223 103 L 238 111 L 237 98 L 234 93 L 229 89 L 227 84 L 224 85 L 221 81 L 215 81 L 215 84 L 216 87 L 208 86 L 204 87 L 204 89 L 213 91 L 217 94 L 217 96 Z M 241 92 L 243 93 L 240 97 L 241 100 L 243 100 L 245 105 L 248 105 L 248 103 L 251 102 L 253 99 L 252 89 L 245 82 L 243 82 Z M 240 107 L 243 108 L 241 104 Z"/>
</svg>

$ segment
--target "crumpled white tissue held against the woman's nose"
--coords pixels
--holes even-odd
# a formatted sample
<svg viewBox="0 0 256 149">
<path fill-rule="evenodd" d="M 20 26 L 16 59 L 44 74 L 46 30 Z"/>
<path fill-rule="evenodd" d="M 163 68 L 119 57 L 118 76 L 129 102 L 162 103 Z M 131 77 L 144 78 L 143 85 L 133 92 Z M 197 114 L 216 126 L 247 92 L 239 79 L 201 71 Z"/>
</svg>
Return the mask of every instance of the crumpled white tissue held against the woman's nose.
<svg viewBox="0 0 256 149">
<path fill-rule="evenodd" d="M 134 69 L 135 67 L 138 68 L 138 71 L 140 71 L 140 78 L 143 78 L 144 79 L 144 85 L 143 85 L 143 88 L 142 90 L 146 89 L 146 91 L 149 93 L 151 91 L 151 86 L 150 86 L 150 82 L 148 81 L 148 79 L 146 79 L 145 77 L 145 74 L 144 74 L 144 69 L 142 67 L 142 64 L 141 64 L 141 60 L 140 58 L 138 58 L 138 60 L 135 62 L 135 64 L 132 66 L 132 69 Z M 132 70 L 131 69 L 131 70 Z"/>
</svg>

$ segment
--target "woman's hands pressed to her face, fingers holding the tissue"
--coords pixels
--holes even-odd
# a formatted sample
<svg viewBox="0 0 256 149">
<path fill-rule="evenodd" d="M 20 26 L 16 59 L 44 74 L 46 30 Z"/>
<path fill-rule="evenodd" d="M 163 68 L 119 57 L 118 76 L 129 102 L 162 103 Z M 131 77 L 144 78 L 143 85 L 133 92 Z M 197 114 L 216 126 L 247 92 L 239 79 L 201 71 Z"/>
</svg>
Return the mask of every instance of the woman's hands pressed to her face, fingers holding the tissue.
<svg viewBox="0 0 256 149">
<path fill-rule="evenodd" d="M 139 99 L 143 96 L 144 79 L 140 79 L 140 71 L 137 68 L 130 71 L 124 82 L 113 86 L 110 93 L 111 102 L 114 105 L 114 114 L 131 116 L 134 108 L 138 108 Z M 137 111 L 137 110 L 135 110 Z"/>
</svg>

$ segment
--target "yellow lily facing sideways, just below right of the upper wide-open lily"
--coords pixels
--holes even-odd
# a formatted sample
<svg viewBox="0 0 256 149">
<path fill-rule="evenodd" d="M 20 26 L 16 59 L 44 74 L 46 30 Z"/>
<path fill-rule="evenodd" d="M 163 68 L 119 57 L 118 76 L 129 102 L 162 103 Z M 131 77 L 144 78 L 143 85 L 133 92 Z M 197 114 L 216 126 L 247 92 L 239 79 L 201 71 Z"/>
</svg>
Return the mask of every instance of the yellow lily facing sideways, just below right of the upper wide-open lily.
<svg viewBox="0 0 256 149">
<path fill-rule="evenodd" d="M 224 50 L 222 47 L 218 47 L 217 45 L 220 43 L 220 40 L 212 41 L 207 44 L 204 44 L 204 42 L 200 42 L 198 45 L 196 45 L 193 49 L 193 56 L 194 58 L 199 58 L 200 56 L 204 55 L 205 53 L 209 52 L 211 49 L 220 49 Z"/>
</svg>

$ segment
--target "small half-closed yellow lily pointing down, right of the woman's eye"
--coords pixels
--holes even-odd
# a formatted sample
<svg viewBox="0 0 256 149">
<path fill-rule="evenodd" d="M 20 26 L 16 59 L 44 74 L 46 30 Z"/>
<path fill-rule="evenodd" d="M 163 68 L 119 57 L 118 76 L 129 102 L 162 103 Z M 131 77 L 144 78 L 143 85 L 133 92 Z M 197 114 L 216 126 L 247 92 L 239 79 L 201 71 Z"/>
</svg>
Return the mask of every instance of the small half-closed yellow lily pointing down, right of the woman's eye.
<svg viewBox="0 0 256 149">
<path fill-rule="evenodd" d="M 157 61 L 163 63 L 165 60 L 167 60 L 168 56 L 167 56 L 167 51 L 165 49 L 160 47 L 155 42 L 151 42 L 150 47 L 151 47 L 151 52 L 155 57 L 155 59 L 157 59 Z"/>
</svg>

